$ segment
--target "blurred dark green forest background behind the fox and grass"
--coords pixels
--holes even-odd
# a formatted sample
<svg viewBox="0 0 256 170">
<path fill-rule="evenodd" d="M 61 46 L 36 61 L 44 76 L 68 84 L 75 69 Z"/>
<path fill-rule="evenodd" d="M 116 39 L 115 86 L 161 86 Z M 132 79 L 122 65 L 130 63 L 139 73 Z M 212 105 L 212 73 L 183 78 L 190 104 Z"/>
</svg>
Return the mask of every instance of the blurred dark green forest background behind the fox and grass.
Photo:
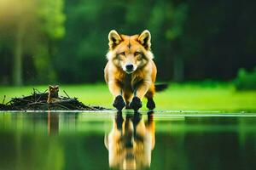
<svg viewBox="0 0 256 170">
<path fill-rule="evenodd" d="M 230 0 L 0 0 L 0 84 L 103 82 L 108 32 L 148 29 L 158 81 L 240 77 L 235 82 L 252 88 L 255 7 Z"/>
</svg>

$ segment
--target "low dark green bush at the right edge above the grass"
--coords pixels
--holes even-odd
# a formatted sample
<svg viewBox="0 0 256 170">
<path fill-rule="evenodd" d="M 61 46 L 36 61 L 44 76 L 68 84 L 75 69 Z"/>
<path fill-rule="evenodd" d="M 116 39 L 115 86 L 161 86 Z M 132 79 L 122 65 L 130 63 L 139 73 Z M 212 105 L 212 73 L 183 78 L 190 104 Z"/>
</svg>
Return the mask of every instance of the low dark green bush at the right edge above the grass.
<svg viewBox="0 0 256 170">
<path fill-rule="evenodd" d="M 246 71 L 241 68 L 235 79 L 237 90 L 255 90 L 256 89 L 256 67 L 253 71 Z"/>
</svg>

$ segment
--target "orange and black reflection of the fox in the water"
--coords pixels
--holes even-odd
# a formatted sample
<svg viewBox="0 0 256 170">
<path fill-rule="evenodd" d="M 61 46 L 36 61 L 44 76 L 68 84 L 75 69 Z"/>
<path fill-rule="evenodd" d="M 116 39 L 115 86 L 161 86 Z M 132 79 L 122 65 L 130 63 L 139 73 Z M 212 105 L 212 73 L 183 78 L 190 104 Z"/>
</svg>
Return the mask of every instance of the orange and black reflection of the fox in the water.
<svg viewBox="0 0 256 170">
<path fill-rule="evenodd" d="M 151 151 L 154 149 L 154 117 L 148 112 L 143 121 L 137 113 L 134 116 L 117 114 L 113 128 L 105 135 L 109 167 L 119 169 L 142 169 L 150 167 Z"/>
</svg>

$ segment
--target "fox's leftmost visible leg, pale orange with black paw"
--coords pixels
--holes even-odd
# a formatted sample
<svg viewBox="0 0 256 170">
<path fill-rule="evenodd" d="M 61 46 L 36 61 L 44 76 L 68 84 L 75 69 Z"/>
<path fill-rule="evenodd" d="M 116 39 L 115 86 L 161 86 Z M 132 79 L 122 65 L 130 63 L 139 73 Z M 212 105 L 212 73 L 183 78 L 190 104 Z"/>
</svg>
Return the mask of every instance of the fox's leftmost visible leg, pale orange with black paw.
<svg viewBox="0 0 256 170">
<path fill-rule="evenodd" d="M 113 107 L 115 107 L 118 111 L 122 111 L 125 107 L 125 101 L 122 97 L 122 89 L 119 86 L 118 82 L 110 81 L 108 82 L 108 88 L 111 94 L 115 97 L 113 100 Z"/>
</svg>

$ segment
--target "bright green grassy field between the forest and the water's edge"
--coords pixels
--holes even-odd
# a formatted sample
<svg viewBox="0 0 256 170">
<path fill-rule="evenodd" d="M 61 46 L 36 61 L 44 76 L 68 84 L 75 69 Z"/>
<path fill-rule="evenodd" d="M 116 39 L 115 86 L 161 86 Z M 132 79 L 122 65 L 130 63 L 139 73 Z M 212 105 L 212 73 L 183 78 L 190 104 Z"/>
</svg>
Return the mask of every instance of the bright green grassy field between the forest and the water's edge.
<svg viewBox="0 0 256 170">
<path fill-rule="evenodd" d="M 32 88 L 44 91 L 48 86 L 26 86 L 21 88 L 0 87 L 0 102 L 32 93 Z M 105 84 L 61 85 L 70 97 L 78 97 L 86 105 L 102 105 L 112 108 L 112 95 Z M 155 95 L 156 110 L 169 111 L 256 111 L 256 91 L 237 92 L 231 84 L 204 86 L 202 84 L 171 84 Z M 146 99 L 143 99 L 143 106 Z M 143 110 L 146 110 L 143 107 Z"/>
</svg>

